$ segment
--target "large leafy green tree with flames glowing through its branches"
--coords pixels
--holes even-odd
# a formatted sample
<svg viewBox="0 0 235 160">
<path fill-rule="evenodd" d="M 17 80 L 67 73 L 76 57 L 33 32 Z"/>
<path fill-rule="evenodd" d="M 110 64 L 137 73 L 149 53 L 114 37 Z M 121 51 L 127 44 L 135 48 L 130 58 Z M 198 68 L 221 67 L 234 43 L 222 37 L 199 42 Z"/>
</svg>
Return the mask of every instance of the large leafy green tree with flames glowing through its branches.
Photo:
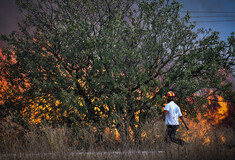
<svg viewBox="0 0 235 160">
<path fill-rule="evenodd" d="M 16 2 L 25 17 L 19 31 L 2 39 L 9 44 L 4 54 L 17 62 L 4 69 L 24 90 L 15 89 L 21 98 L 5 105 L 19 108 L 43 97 L 62 117 L 68 113 L 54 123 L 115 125 L 126 135 L 131 126 L 138 137 L 140 124 L 156 113 L 151 108 L 161 112 L 168 90 L 195 115 L 205 102 L 196 92 L 231 88 L 224 82 L 234 67 L 234 35 L 224 42 L 218 32 L 194 31 L 176 1 Z"/>
</svg>

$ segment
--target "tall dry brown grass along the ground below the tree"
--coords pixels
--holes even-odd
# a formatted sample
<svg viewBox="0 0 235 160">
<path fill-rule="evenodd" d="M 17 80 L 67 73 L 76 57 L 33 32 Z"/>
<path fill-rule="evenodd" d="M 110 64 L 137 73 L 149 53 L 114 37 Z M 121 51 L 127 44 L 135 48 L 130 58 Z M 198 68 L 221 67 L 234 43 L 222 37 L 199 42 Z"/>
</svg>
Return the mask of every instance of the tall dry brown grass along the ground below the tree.
<svg viewBox="0 0 235 160">
<path fill-rule="evenodd" d="M 231 128 L 211 129 L 207 133 L 210 143 L 205 144 L 203 137 L 195 137 L 184 146 L 166 144 L 165 129 L 163 123 L 146 123 L 142 127 L 142 138 L 134 143 L 121 138 L 117 140 L 114 134 L 99 133 L 94 126 L 84 129 L 30 126 L 24 130 L 5 123 L 1 124 L 0 159 L 223 160 L 235 156 L 234 130 Z M 224 141 L 220 141 L 221 135 L 225 136 Z M 177 136 L 186 136 L 185 130 L 181 129 Z"/>
</svg>

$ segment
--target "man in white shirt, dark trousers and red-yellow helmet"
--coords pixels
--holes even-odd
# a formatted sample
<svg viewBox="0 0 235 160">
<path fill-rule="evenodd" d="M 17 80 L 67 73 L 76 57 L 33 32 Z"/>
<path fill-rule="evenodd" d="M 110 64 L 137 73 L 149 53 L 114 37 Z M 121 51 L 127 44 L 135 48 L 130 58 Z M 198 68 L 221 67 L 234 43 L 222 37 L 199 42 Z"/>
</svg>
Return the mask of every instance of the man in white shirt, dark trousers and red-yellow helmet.
<svg viewBox="0 0 235 160">
<path fill-rule="evenodd" d="M 173 101 L 175 94 L 172 91 L 169 91 L 167 92 L 166 97 L 167 104 L 164 108 L 164 113 L 154 122 L 157 122 L 165 117 L 165 124 L 167 126 L 166 141 L 172 141 L 174 143 L 184 145 L 185 142 L 183 140 L 176 138 L 176 130 L 179 128 L 178 117 L 182 120 L 187 130 L 189 130 L 189 127 L 185 122 L 179 106 Z"/>
</svg>

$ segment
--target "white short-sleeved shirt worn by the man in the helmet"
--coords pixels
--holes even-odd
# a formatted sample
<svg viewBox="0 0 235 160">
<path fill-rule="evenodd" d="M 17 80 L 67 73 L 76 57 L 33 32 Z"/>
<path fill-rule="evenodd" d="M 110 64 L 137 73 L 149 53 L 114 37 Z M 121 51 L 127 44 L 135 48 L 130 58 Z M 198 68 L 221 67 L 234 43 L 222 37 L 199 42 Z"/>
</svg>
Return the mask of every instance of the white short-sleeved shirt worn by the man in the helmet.
<svg viewBox="0 0 235 160">
<path fill-rule="evenodd" d="M 178 117 L 182 116 L 181 110 L 175 102 L 171 101 L 166 104 L 164 110 L 169 111 L 165 117 L 166 125 L 179 125 Z"/>
</svg>

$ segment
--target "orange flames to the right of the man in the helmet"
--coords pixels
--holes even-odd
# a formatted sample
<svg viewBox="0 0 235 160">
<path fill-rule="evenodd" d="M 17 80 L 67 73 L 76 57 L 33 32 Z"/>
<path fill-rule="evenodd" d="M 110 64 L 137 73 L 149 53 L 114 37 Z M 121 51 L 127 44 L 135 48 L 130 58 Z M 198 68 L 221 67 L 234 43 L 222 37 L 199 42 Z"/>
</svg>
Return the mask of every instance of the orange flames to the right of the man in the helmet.
<svg viewBox="0 0 235 160">
<path fill-rule="evenodd" d="M 200 140 L 202 144 L 209 144 L 214 141 L 215 131 L 214 126 L 222 123 L 222 121 L 228 117 L 229 115 L 229 106 L 228 103 L 224 101 L 221 96 L 209 96 L 208 97 L 209 108 L 204 105 L 204 108 L 207 109 L 206 113 L 198 112 L 197 119 L 199 122 L 189 121 L 188 132 L 184 132 L 183 137 L 186 141 L 195 141 Z M 207 117 L 207 118 L 205 118 Z M 226 141 L 224 133 L 216 133 L 217 141 L 219 140 L 221 143 Z"/>
</svg>

